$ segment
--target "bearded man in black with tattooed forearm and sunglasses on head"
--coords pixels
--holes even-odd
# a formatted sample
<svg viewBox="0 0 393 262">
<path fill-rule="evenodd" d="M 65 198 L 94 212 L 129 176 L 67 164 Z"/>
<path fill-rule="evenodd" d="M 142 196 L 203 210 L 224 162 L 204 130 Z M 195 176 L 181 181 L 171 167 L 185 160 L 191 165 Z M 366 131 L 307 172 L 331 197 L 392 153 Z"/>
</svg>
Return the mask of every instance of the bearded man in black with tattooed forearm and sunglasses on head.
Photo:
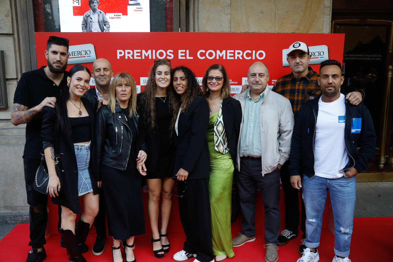
<svg viewBox="0 0 393 262">
<path fill-rule="evenodd" d="M 29 72 L 20 77 L 14 95 L 11 123 L 17 126 L 26 124 L 26 143 L 23 164 L 26 182 L 27 201 L 30 206 L 30 242 L 32 249 L 26 261 L 40 262 L 46 258 L 44 244 L 45 229 L 48 222 L 46 205 L 48 196 L 35 191 L 35 173 L 41 163 L 42 108 L 54 107 L 59 89 L 66 87 L 68 72 L 68 39 L 51 36 L 46 42 L 45 57 L 48 66 Z"/>
</svg>

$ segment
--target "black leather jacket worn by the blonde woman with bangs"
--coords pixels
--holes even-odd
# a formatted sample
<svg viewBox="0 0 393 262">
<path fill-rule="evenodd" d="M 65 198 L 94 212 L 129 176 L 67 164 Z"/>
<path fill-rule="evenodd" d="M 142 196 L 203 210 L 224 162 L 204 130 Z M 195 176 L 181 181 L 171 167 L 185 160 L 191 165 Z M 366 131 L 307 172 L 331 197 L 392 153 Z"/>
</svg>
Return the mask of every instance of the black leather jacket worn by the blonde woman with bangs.
<svg viewBox="0 0 393 262">
<path fill-rule="evenodd" d="M 134 165 L 136 152 L 143 150 L 147 153 L 147 147 L 142 144 L 139 148 L 131 148 L 132 136 L 138 136 L 139 114 L 132 115 L 137 134 L 132 134 L 127 124 L 126 115 L 116 101 L 115 113 L 112 113 L 108 106 L 101 106 L 95 116 L 95 147 L 92 153 L 93 172 L 95 177 L 101 179 L 100 164 L 109 167 L 125 170 L 128 164 Z M 138 137 L 135 145 L 140 145 Z M 136 168 L 136 165 L 135 165 Z"/>
</svg>

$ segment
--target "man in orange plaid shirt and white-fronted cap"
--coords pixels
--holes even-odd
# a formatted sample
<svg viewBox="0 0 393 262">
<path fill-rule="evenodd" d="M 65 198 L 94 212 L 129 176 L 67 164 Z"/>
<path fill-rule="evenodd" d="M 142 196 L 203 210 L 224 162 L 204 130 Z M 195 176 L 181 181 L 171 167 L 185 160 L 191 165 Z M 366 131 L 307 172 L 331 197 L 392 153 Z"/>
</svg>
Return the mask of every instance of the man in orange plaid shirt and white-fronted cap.
<svg viewBox="0 0 393 262">
<path fill-rule="evenodd" d="M 297 112 L 304 103 L 321 94 L 321 88 L 317 81 L 319 74 L 309 67 L 310 59 L 311 55 L 309 53 L 309 47 L 305 43 L 294 42 L 291 44 L 288 48 L 286 60 L 288 61 L 292 72 L 278 79 L 272 89 L 272 91 L 289 99 L 295 119 Z M 357 105 L 362 101 L 363 97 L 364 92 L 359 90 L 348 93 L 345 99 L 347 99 L 349 103 Z M 288 161 L 286 161 L 281 167 L 280 177 L 283 185 L 285 202 L 285 230 L 281 232 L 281 235 L 278 237 L 279 243 L 277 246 L 284 246 L 289 242 L 289 240 L 296 238 L 298 236 L 298 227 L 300 224 L 299 190 L 294 189 L 290 183 L 290 174 L 288 170 L 289 163 L 290 159 L 288 159 Z M 306 248 L 304 245 L 304 240 L 306 238 L 306 214 L 303 200 L 301 200 L 301 211 L 300 229 L 303 231 L 303 240 L 299 248 L 299 255 L 301 255 L 303 250 Z"/>
</svg>

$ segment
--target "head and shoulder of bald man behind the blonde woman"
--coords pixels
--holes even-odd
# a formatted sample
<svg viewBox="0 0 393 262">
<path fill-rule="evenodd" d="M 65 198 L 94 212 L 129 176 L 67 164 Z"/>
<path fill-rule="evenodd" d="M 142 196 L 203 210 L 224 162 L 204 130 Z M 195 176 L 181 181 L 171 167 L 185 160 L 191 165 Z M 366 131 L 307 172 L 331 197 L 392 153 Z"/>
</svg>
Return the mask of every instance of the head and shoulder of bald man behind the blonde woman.
<svg viewBox="0 0 393 262">
<path fill-rule="evenodd" d="M 95 81 L 95 88 L 90 88 L 83 97 L 89 99 L 97 111 L 103 101 L 109 100 L 109 86 L 113 77 L 113 70 L 110 62 L 105 58 L 99 58 L 93 63 L 92 76 Z"/>
</svg>

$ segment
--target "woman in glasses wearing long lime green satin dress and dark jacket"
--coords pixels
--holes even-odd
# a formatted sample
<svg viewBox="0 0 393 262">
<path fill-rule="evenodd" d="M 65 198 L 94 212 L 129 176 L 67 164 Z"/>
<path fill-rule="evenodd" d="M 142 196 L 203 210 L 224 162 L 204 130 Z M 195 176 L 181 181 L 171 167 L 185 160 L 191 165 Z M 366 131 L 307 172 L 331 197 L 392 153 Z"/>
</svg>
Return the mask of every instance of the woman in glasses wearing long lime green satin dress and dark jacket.
<svg viewBox="0 0 393 262">
<path fill-rule="evenodd" d="M 213 64 L 202 79 L 209 103 L 208 144 L 210 151 L 209 196 L 211 236 L 216 261 L 233 257 L 231 233 L 231 192 L 236 163 L 242 108 L 231 97 L 231 85 L 224 66 Z"/>
</svg>

